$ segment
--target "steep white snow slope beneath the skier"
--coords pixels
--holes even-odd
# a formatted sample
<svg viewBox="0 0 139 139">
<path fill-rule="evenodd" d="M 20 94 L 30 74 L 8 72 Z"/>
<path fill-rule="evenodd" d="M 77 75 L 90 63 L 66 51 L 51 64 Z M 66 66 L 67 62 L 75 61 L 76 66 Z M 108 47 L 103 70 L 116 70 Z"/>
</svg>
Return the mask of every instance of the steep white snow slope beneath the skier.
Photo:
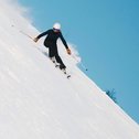
<svg viewBox="0 0 139 139">
<path fill-rule="evenodd" d="M 22 8 L 0 1 L 0 139 L 139 139 L 139 126 L 78 70 L 61 41 L 71 79 L 50 62 L 43 40 L 24 34 L 39 32 Z"/>
</svg>

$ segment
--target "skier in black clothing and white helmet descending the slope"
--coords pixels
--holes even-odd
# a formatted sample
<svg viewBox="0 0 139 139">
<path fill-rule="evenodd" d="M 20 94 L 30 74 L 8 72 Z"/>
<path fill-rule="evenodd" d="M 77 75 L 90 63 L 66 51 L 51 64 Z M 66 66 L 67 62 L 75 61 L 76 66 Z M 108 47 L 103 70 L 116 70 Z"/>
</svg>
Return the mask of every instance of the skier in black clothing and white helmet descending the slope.
<svg viewBox="0 0 139 139">
<path fill-rule="evenodd" d="M 67 43 L 65 41 L 65 39 L 62 35 L 61 32 L 61 24 L 60 23 L 55 23 L 53 25 L 53 29 L 50 29 L 43 33 L 41 33 L 40 35 L 38 35 L 36 38 L 34 38 L 34 42 L 38 42 L 40 38 L 46 35 L 45 40 L 44 40 L 44 46 L 46 46 L 49 49 L 49 57 L 53 61 L 54 58 L 56 60 L 56 62 L 60 64 L 60 68 L 61 70 L 65 70 L 66 66 L 63 63 L 62 58 L 58 55 L 57 52 L 57 39 L 60 38 L 63 42 L 63 44 L 65 45 L 65 49 L 67 51 L 67 54 L 71 55 L 71 50 L 67 46 Z M 54 62 L 54 61 L 53 61 Z"/>
</svg>

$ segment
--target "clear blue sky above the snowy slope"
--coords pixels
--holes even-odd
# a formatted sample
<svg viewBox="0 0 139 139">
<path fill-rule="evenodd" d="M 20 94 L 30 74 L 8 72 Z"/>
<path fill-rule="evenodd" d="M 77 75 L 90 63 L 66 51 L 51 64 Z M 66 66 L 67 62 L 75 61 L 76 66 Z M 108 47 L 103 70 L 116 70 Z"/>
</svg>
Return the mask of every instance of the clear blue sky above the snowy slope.
<svg viewBox="0 0 139 139">
<path fill-rule="evenodd" d="M 118 105 L 139 124 L 139 1 L 19 0 L 40 31 L 60 22 L 103 89 L 115 89 Z"/>
</svg>

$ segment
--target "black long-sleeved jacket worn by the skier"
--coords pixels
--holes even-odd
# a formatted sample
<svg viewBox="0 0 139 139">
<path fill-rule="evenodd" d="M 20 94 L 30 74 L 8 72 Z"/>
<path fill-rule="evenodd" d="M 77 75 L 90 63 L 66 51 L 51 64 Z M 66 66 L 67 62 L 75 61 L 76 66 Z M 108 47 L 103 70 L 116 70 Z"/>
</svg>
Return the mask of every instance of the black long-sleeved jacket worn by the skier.
<svg viewBox="0 0 139 139">
<path fill-rule="evenodd" d="M 44 45 L 45 45 L 46 47 L 56 45 L 56 41 L 57 41 L 57 39 L 60 38 L 60 39 L 62 40 L 63 44 L 65 45 L 65 47 L 68 49 L 67 43 L 66 43 L 65 39 L 63 38 L 61 31 L 60 31 L 60 32 L 54 32 L 54 30 L 51 29 L 51 30 L 47 30 L 47 31 L 41 33 L 41 34 L 38 36 L 38 39 L 40 39 L 40 38 L 42 38 L 42 36 L 44 36 L 44 35 L 47 35 L 47 36 L 45 38 L 45 40 L 44 40 Z"/>
</svg>

